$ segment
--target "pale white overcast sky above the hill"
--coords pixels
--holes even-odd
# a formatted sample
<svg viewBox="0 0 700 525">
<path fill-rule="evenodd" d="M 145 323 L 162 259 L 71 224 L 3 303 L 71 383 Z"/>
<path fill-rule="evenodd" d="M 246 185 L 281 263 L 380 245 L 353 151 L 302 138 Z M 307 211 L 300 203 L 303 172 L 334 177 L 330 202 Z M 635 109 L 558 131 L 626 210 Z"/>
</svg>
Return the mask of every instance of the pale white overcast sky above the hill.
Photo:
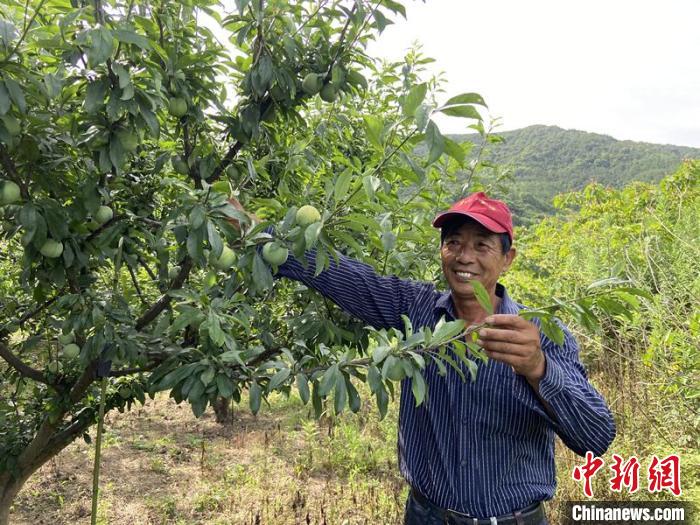
<svg viewBox="0 0 700 525">
<path fill-rule="evenodd" d="M 404 0 L 369 54 L 413 42 L 445 99 L 480 93 L 500 131 L 532 124 L 700 147 L 700 0 Z M 463 133 L 466 121 L 438 121 Z"/>
</svg>

